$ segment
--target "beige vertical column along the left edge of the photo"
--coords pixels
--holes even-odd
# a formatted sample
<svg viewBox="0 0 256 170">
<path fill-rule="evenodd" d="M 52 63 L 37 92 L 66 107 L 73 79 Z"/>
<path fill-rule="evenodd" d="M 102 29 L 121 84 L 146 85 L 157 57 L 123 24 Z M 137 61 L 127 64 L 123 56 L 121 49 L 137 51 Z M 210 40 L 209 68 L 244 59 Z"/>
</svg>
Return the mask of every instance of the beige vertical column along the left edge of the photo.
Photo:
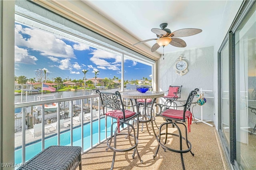
<svg viewBox="0 0 256 170">
<path fill-rule="evenodd" d="M 0 1 L 0 163 L 14 163 L 14 7 Z"/>
</svg>

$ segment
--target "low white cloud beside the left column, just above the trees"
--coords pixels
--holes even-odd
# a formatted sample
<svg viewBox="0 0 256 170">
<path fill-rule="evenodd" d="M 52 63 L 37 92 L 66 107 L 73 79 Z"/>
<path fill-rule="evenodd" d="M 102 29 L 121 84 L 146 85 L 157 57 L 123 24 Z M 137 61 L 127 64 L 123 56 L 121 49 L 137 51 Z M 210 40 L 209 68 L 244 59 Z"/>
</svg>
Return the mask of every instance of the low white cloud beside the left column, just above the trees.
<svg viewBox="0 0 256 170">
<path fill-rule="evenodd" d="M 28 50 L 15 45 L 15 62 L 24 64 L 36 64 L 38 59 L 33 55 L 28 55 Z"/>
</svg>

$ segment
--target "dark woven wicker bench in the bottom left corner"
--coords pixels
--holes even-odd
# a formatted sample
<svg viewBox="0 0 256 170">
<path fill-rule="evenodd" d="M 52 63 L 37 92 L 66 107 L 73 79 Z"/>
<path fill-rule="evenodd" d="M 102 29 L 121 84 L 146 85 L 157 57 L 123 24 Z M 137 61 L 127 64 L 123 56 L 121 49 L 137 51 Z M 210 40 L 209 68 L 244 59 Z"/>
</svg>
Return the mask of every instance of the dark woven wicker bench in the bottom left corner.
<svg viewBox="0 0 256 170">
<path fill-rule="evenodd" d="M 82 170 L 80 146 L 49 146 L 18 170 Z"/>
</svg>

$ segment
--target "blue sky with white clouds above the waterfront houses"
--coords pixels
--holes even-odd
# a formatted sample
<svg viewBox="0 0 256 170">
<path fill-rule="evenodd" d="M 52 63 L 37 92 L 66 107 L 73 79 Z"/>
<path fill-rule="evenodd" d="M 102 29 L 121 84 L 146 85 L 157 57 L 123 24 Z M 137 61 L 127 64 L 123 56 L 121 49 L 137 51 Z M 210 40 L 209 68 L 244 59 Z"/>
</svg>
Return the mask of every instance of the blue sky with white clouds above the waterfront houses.
<svg viewBox="0 0 256 170">
<path fill-rule="evenodd" d="M 36 78 L 37 69 L 46 69 L 48 79 L 121 78 L 121 57 L 44 30 L 15 23 L 15 75 Z M 124 79 L 150 79 L 151 66 L 125 59 Z"/>
</svg>

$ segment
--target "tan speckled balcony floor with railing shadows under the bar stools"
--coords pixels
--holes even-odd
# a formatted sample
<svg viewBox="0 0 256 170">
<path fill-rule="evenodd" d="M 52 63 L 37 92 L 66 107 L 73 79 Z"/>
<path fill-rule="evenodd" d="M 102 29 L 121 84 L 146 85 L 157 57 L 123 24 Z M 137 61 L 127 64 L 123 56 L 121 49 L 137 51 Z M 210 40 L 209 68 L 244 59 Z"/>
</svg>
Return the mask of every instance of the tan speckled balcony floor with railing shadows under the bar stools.
<svg viewBox="0 0 256 170">
<path fill-rule="evenodd" d="M 162 118 L 156 120 L 157 125 L 163 123 Z M 140 126 L 141 127 L 141 126 Z M 156 132 L 158 129 L 155 127 Z M 152 132 L 151 125 L 149 125 Z M 170 131 L 177 132 L 176 128 L 170 128 Z M 118 138 L 120 141 L 118 147 L 130 146 L 124 137 Z M 192 143 L 192 152 L 183 154 L 186 170 L 229 170 L 230 167 L 226 161 L 226 156 L 222 150 L 218 138 L 218 132 L 215 127 L 210 127 L 204 123 L 193 123 L 191 132 L 188 134 L 188 140 Z M 178 143 L 177 138 L 168 138 L 168 143 L 175 147 Z M 117 152 L 114 163 L 115 170 L 180 170 L 182 169 L 180 154 L 170 151 L 164 152 L 159 149 L 155 159 L 153 154 L 158 144 L 153 133 L 148 134 L 146 128 L 139 133 L 138 152 L 143 160 L 140 163 L 138 156 L 135 154 L 132 159 L 132 151 Z M 96 148 L 82 155 L 83 170 L 107 170 L 112 164 L 113 152 L 106 150 L 106 142 L 98 145 Z"/>
</svg>

